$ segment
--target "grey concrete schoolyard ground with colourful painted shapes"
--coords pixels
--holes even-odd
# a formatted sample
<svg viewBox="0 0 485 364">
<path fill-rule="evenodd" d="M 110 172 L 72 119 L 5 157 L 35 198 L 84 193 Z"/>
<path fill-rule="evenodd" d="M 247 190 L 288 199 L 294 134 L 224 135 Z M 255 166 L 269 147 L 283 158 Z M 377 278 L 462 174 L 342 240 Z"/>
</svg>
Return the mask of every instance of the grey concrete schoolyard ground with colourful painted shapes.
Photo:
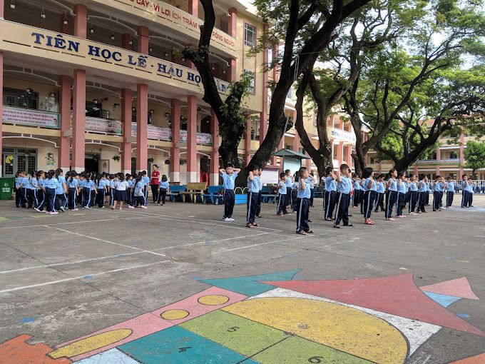
<svg viewBox="0 0 485 364">
<path fill-rule="evenodd" d="M 485 363 L 474 206 L 337 230 L 317 198 L 299 236 L 272 203 L 250 229 L 245 205 L 1 201 L 0 363 Z"/>
</svg>

